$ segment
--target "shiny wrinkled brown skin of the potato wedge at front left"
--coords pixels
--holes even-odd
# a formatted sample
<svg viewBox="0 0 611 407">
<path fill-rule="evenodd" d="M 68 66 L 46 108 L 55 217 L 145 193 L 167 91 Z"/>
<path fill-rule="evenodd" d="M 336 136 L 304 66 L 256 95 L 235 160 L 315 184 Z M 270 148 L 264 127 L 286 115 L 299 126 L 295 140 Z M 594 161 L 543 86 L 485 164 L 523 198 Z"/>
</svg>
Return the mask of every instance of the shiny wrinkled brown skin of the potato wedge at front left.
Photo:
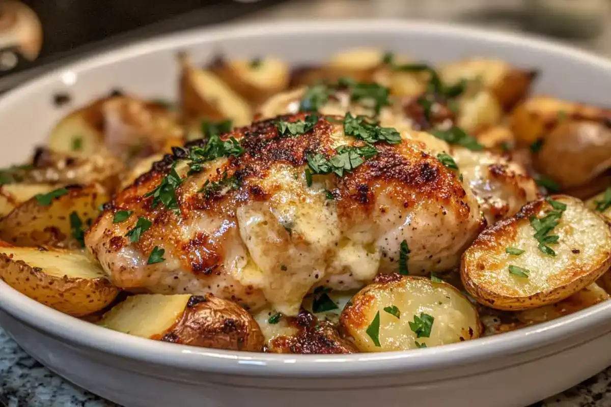
<svg viewBox="0 0 611 407">
<path fill-rule="evenodd" d="M 180 320 L 163 335 L 151 339 L 253 352 L 261 351 L 264 342 L 261 329 L 251 314 L 233 301 L 212 294 L 189 298 Z"/>
</svg>

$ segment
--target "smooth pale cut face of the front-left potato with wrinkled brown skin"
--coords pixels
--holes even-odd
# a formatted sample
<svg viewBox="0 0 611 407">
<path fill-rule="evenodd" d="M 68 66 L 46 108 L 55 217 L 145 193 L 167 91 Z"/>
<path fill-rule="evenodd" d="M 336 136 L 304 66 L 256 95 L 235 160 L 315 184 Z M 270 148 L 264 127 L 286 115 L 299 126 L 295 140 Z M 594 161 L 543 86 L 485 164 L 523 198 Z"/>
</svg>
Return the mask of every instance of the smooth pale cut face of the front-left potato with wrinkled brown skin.
<svg viewBox="0 0 611 407">
<path fill-rule="evenodd" d="M 169 330 L 185 308 L 190 294 L 139 294 L 127 298 L 98 322 L 114 331 L 150 338 Z"/>
</svg>

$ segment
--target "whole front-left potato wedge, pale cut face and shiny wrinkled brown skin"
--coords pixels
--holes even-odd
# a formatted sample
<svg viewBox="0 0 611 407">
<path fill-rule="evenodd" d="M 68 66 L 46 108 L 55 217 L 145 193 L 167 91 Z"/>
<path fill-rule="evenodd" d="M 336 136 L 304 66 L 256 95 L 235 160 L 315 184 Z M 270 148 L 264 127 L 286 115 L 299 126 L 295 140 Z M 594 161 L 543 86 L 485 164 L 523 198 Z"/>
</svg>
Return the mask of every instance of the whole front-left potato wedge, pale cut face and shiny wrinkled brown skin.
<svg viewBox="0 0 611 407">
<path fill-rule="evenodd" d="M 263 334 L 251 314 L 211 294 L 133 295 L 104 314 L 98 324 L 175 344 L 244 351 L 263 348 Z"/>
</svg>

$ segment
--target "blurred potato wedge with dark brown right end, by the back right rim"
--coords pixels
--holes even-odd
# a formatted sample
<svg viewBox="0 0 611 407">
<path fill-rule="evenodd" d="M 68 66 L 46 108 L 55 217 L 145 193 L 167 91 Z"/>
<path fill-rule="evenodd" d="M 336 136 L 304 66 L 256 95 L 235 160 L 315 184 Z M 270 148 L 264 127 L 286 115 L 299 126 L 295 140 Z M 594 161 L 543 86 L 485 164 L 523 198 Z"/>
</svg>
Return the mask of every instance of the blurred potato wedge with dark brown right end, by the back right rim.
<svg viewBox="0 0 611 407">
<path fill-rule="evenodd" d="M 464 79 L 488 90 L 500 109 L 508 112 L 527 95 L 536 71 L 511 67 L 498 59 L 472 58 L 442 65 L 439 75 L 448 85 Z"/>
</svg>

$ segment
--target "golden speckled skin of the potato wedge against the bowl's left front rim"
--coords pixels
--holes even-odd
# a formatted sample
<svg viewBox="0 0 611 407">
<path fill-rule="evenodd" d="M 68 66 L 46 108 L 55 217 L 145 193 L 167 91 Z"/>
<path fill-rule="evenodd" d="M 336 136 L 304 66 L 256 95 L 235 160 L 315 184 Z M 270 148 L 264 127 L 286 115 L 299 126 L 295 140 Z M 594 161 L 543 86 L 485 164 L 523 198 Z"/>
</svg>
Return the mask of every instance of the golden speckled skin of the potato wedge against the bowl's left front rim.
<svg viewBox="0 0 611 407">
<path fill-rule="evenodd" d="M 103 309 L 119 293 L 106 278 L 59 278 L 5 253 L 0 253 L 0 278 L 21 294 L 73 317 Z"/>
</svg>

